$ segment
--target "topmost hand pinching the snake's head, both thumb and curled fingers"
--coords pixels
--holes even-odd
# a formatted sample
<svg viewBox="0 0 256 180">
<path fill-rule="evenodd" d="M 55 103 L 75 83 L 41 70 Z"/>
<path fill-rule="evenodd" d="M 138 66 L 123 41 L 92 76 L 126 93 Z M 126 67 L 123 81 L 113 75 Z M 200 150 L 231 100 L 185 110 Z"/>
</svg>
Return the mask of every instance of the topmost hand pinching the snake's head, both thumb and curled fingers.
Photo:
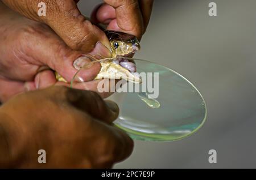
<svg viewBox="0 0 256 180">
<path fill-rule="evenodd" d="M 40 0 L 2 0 L 20 14 L 49 25 L 72 49 L 92 50 L 97 41 L 109 46 L 108 38 L 77 8 L 79 0 L 45 0 L 46 16 L 38 16 Z M 150 19 L 153 0 L 104 0 L 92 15 L 93 23 L 108 24 L 109 30 L 122 31 L 141 38 Z M 97 11 L 98 10 L 98 11 Z"/>
</svg>

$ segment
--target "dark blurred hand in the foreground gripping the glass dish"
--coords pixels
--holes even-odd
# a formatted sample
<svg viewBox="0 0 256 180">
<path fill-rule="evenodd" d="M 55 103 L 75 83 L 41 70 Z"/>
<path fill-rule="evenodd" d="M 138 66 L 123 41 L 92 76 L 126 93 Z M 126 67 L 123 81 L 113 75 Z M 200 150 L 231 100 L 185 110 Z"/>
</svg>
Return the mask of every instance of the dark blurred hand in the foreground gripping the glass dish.
<svg viewBox="0 0 256 180">
<path fill-rule="evenodd" d="M 51 87 L 17 95 L 0 108 L 1 168 L 110 168 L 133 140 L 112 126 L 118 106 L 95 92 Z M 38 151 L 46 151 L 46 164 Z"/>
</svg>

